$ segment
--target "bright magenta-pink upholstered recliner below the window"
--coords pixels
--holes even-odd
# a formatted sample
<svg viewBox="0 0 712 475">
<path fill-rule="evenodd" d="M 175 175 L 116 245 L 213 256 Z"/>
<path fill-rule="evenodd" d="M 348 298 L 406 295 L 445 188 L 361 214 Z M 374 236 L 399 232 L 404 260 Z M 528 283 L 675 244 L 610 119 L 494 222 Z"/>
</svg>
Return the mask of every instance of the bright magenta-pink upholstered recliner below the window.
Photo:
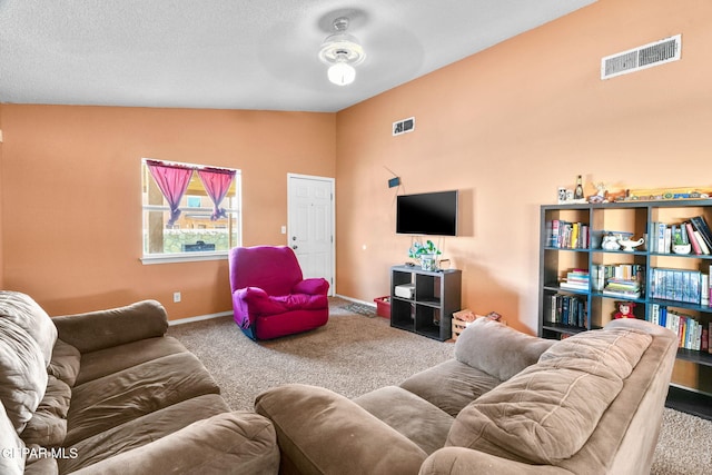
<svg viewBox="0 0 712 475">
<path fill-rule="evenodd" d="M 326 325 L 329 283 L 304 279 L 291 248 L 233 248 L 229 269 L 235 321 L 251 339 L 277 338 Z"/>
</svg>

